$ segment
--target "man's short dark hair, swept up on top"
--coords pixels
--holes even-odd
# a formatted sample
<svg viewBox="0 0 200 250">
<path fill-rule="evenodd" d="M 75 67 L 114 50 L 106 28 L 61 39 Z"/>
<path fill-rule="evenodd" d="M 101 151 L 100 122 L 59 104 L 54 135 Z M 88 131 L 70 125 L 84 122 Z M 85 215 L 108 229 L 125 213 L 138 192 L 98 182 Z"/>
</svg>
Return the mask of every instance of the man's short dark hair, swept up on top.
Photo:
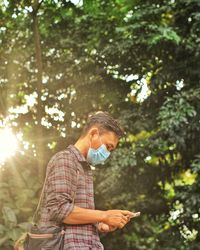
<svg viewBox="0 0 200 250">
<path fill-rule="evenodd" d="M 119 138 L 125 134 L 117 120 L 110 116 L 108 112 L 98 111 L 89 115 L 88 120 L 83 128 L 82 136 L 86 135 L 92 126 L 97 126 L 100 134 L 106 131 L 112 131 Z"/>
</svg>

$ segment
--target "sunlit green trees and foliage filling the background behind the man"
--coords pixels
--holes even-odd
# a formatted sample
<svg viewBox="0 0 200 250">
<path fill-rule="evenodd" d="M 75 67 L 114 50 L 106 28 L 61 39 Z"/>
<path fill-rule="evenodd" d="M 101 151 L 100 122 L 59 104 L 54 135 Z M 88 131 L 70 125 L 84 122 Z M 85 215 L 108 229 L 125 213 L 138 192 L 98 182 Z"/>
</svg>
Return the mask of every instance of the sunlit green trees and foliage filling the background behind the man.
<svg viewBox="0 0 200 250">
<path fill-rule="evenodd" d="M 96 110 L 126 130 L 96 168 L 96 207 L 142 213 L 103 235 L 105 248 L 199 249 L 199 9 L 198 0 L 0 1 L 0 127 L 19 141 L 0 168 L 0 249 L 31 220 L 51 156 Z"/>
</svg>

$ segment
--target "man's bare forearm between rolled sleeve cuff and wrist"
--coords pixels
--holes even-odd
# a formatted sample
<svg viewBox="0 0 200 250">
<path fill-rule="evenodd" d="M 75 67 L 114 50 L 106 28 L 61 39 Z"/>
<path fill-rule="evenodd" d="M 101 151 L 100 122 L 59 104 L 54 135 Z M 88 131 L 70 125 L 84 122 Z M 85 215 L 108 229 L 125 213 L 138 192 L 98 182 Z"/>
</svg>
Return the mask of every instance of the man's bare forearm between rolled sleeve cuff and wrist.
<svg viewBox="0 0 200 250">
<path fill-rule="evenodd" d="M 63 222 L 65 224 L 95 224 L 104 220 L 104 214 L 104 211 L 74 206 Z"/>
</svg>

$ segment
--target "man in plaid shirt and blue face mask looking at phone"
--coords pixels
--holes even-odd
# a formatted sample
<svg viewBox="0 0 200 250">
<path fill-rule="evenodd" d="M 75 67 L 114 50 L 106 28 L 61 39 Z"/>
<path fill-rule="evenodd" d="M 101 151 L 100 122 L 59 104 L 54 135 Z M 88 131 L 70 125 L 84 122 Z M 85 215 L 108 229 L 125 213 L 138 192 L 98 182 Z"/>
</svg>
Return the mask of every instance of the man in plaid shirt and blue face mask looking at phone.
<svg viewBox="0 0 200 250">
<path fill-rule="evenodd" d="M 48 163 L 40 223 L 65 225 L 65 250 L 104 249 L 98 231 L 121 229 L 134 217 L 130 211 L 94 206 L 91 165 L 102 164 L 122 135 L 116 120 L 98 112 L 89 117 L 78 141 Z"/>
</svg>

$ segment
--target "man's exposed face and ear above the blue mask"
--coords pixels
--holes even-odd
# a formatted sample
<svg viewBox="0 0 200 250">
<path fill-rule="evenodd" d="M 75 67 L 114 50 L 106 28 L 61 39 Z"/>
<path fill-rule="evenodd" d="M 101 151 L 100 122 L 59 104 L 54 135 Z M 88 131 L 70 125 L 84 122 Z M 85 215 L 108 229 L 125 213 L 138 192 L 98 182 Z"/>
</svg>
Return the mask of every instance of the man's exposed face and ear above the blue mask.
<svg viewBox="0 0 200 250">
<path fill-rule="evenodd" d="M 101 143 L 105 144 L 108 151 L 113 151 L 119 142 L 118 136 L 112 131 L 105 131 L 99 135 L 99 130 L 93 130 L 91 134 L 91 147 L 97 149 Z"/>
</svg>

